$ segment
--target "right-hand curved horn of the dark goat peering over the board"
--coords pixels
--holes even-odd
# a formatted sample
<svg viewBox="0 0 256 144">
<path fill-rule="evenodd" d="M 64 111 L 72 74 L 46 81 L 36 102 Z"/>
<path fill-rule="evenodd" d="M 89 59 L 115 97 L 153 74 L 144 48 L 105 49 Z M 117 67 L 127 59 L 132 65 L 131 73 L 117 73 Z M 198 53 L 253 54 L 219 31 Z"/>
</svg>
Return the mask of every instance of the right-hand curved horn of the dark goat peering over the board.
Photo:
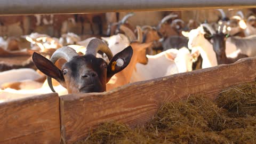
<svg viewBox="0 0 256 144">
<path fill-rule="evenodd" d="M 109 60 L 113 58 L 113 54 L 109 49 L 108 45 L 101 41 L 101 39 L 94 38 L 89 42 L 88 46 L 86 47 L 85 55 L 93 54 L 94 56 L 96 56 L 98 51 L 102 51 L 103 53 L 105 53 Z"/>
</svg>

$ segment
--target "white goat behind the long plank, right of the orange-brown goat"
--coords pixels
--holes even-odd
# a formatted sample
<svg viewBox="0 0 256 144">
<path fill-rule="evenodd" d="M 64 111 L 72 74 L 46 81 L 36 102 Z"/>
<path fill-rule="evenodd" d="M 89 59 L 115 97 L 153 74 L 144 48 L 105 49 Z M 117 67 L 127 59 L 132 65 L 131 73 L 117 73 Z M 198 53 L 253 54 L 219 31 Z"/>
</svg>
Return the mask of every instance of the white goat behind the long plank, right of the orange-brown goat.
<svg viewBox="0 0 256 144">
<path fill-rule="evenodd" d="M 185 47 L 180 50 L 169 49 L 156 55 L 147 55 L 148 64 L 141 65 L 137 63 L 132 74 L 131 82 L 146 81 L 191 71 L 193 57 L 198 57 L 198 55 L 197 52 L 190 54 L 189 50 Z"/>
</svg>

